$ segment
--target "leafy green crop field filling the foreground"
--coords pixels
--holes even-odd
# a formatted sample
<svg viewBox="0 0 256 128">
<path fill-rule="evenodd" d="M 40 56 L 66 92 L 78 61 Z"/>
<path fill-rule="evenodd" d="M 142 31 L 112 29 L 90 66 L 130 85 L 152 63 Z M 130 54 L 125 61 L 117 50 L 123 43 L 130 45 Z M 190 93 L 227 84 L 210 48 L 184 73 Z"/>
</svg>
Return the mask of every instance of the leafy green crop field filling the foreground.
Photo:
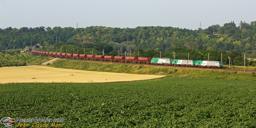
<svg viewBox="0 0 256 128">
<path fill-rule="evenodd" d="M 79 128 L 256 127 L 255 85 L 256 81 L 173 77 L 4 84 L 0 117 L 63 118 L 63 127 Z"/>
</svg>

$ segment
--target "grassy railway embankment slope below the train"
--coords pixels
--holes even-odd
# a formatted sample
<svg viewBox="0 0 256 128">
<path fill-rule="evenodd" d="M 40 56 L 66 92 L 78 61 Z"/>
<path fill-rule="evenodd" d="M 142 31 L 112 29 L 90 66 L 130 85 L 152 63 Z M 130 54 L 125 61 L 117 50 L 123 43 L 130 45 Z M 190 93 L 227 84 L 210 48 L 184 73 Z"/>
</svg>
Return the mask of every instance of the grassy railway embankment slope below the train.
<svg viewBox="0 0 256 128">
<path fill-rule="evenodd" d="M 58 59 L 49 67 L 130 74 L 167 75 L 171 77 L 204 78 L 222 80 L 256 80 L 255 72 L 206 70 L 206 68 L 174 68 L 173 66 L 129 65 Z"/>
</svg>

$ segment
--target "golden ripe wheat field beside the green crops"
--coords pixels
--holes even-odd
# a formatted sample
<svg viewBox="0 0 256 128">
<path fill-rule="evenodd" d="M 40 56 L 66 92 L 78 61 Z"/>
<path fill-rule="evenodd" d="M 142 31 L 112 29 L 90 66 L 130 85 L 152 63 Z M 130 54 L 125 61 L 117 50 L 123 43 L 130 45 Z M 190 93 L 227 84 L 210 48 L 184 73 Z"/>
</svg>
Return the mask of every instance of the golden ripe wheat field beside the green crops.
<svg viewBox="0 0 256 128">
<path fill-rule="evenodd" d="M 163 75 L 138 75 L 111 72 L 59 69 L 44 66 L 0 68 L 0 84 L 5 83 L 94 83 L 149 80 Z"/>
</svg>

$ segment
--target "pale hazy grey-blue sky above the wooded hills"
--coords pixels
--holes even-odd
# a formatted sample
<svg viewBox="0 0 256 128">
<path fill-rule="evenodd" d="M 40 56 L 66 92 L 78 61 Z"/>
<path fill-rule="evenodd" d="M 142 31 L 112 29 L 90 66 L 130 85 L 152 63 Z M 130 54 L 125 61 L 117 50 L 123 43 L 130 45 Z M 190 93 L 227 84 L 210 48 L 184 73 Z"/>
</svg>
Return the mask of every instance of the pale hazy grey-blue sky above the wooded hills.
<svg viewBox="0 0 256 128">
<path fill-rule="evenodd" d="M 0 0 L 0 28 L 179 27 L 256 21 L 256 0 Z"/>
</svg>

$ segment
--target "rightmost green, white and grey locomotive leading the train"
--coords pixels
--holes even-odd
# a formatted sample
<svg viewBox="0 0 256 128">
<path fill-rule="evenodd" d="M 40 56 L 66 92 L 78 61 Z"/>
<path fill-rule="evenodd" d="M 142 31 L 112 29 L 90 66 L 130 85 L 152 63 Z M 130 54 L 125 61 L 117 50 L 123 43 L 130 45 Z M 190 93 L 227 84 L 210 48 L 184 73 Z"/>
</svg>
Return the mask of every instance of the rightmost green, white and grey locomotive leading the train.
<svg viewBox="0 0 256 128">
<path fill-rule="evenodd" d="M 223 68 L 223 64 L 220 61 L 204 61 L 204 60 L 197 60 L 196 67 L 208 67 L 208 68 Z"/>
</svg>

